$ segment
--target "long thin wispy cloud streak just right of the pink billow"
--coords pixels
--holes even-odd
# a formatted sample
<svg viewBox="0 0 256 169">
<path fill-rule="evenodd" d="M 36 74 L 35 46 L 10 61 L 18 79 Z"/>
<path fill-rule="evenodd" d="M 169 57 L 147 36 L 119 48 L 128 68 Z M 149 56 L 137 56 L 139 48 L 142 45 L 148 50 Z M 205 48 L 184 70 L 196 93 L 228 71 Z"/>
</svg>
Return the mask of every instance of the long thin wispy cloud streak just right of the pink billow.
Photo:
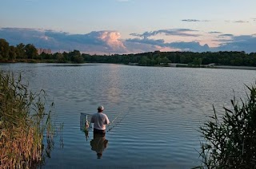
<svg viewBox="0 0 256 169">
<path fill-rule="evenodd" d="M 154 30 L 151 32 L 145 32 L 145 33 L 130 33 L 130 35 L 135 36 L 135 37 L 152 37 L 157 34 L 164 34 L 166 36 L 181 36 L 181 37 L 198 37 L 200 34 L 194 34 L 194 32 L 198 32 L 198 30 L 194 29 L 159 29 L 159 30 Z"/>
</svg>

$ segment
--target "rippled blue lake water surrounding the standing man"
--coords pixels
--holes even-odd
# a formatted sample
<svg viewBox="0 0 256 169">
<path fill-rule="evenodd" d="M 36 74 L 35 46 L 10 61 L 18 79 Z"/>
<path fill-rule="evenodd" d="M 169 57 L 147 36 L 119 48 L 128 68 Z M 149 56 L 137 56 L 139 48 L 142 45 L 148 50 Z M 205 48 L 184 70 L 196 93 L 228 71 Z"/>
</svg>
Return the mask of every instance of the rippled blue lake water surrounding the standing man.
<svg viewBox="0 0 256 169">
<path fill-rule="evenodd" d="M 234 94 L 245 96 L 254 70 L 186 69 L 126 65 L 4 64 L 22 73 L 34 91 L 54 100 L 63 123 L 43 168 L 190 168 L 198 165 L 198 127 Z M 233 92 L 234 90 L 234 92 Z M 80 130 L 81 113 L 104 105 L 110 120 L 125 118 L 106 133 L 102 158 L 91 150 L 93 135 Z M 98 143 L 101 143 L 100 141 Z M 93 148 L 94 149 L 94 148 Z"/>
</svg>

